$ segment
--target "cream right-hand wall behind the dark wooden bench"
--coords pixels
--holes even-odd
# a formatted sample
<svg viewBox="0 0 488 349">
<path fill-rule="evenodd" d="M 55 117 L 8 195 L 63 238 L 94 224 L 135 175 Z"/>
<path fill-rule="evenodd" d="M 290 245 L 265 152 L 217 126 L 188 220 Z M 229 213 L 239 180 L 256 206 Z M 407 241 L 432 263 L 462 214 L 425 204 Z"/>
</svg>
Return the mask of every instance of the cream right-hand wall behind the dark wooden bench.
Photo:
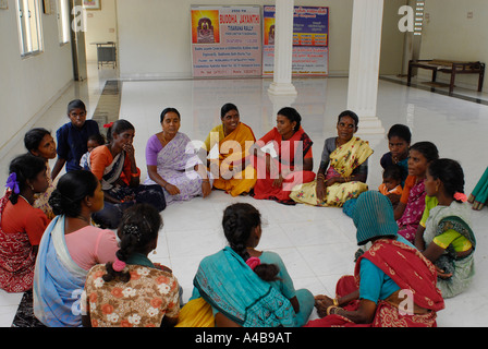
<svg viewBox="0 0 488 349">
<path fill-rule="evenodd" d="M 467 17 L 468 12 L 473 13 L 472 19 Z M 420 59 L 488 63 L 488 2 L 486 0 L 427 0 L 425 13 L 429 19 L 424 24 Z M 418 75 L 430 80 L 431 72 L 419 69 Z M 437 74 L 439 82 L 449 82 L 449 74 Z M 478 75 L 456 75 L 455 85 L 476 91 Z M 488 86 L 484 85 L 483 89 L 488 91 Z"/>
</svg>

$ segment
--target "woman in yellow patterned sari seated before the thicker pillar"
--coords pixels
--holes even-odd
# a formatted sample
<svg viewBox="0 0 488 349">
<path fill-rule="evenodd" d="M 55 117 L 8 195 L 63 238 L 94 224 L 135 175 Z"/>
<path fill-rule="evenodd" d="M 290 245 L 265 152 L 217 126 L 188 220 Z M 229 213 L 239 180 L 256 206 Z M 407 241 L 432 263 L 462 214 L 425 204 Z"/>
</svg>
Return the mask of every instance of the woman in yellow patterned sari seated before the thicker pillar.
<svg viewBox="0 0 488 349">
<path fill-rule="evenodd" d="M 293 188 L 291 198 L 314 206 L 341 207 L 368 190 L 367 159 L 373 149 L 367 141 L 354 136 L 358 121 L 351 110 L 339 115 L 338 136 L 325 142 L 317 179 Z"/>
</svg>

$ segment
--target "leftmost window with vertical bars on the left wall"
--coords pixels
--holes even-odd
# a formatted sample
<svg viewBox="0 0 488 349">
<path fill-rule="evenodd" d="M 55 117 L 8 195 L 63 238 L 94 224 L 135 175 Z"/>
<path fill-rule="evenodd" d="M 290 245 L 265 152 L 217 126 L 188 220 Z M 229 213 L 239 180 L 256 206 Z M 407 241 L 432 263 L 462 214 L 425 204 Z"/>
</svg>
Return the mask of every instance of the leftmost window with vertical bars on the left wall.
<svg viewBox="0 0 488 349">
<path fill-rule="evenodd" d="M 21 56 L 32 56 L 42 51 L 39 0 L 16 0 L 19 14 L 19 40 Z"/>
</svg>

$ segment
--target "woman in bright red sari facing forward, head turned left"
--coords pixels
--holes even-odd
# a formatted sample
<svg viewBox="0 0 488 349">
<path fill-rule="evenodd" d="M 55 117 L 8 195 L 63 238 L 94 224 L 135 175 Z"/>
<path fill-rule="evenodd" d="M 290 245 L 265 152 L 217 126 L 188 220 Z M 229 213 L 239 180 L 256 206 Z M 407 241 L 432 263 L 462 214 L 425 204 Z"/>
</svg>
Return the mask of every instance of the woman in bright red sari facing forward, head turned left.
<svg viewBox="0 0 488 349">
<path fill-rule="evenodd" d="M 249 149 L 254 154 L 254 167 L 257 170 L 254 198 L 294 205 L 295 202 L 290 198 L 293 186 L 315 179 L 312 171 L 313 142 L 302 129 L 301 121 L 302 117 L 294 108 L 280 109 L 276 128 Z M 276 157 L 263 152 L 261 148 L 269 144 L 272 144 Z"/>
</svg>

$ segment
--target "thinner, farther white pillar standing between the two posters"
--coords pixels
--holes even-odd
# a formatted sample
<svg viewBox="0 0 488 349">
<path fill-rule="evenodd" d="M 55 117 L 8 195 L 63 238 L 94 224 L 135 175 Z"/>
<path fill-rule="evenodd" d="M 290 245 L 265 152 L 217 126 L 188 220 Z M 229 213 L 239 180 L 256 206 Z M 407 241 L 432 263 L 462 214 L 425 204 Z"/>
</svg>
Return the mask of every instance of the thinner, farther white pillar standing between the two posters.
<svg viewBox="0 0 488 349">
<path fill-rule="evenodd" d="M 273 82 L 268 88 L 271 95 L 296 95 L 292 84 L 293 2 L 276 0 Z"/>
</svg>

